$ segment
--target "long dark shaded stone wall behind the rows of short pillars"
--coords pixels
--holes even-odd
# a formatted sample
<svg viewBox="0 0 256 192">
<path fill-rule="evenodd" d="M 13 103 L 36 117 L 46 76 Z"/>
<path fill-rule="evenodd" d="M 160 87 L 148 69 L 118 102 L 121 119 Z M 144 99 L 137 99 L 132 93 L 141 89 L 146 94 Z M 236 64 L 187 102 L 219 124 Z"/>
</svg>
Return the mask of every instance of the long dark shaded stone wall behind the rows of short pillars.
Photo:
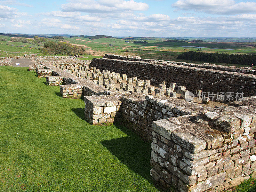
<svg viewBox="0 0 256 192">
<path fill-rule="evenodd" d="M 237 72 L 226 72 L 213 69 L 202 69 L 166 62 L 127 61 L 105 58 L 94 58 L 92 67 L 114 70 L 127 76 L 137 76 L 140 79 L 151 80 L 154 84 L 162 81 L 177 83 L 189 87 L 191 92 L 244 92 L 244 96 L 256 95 L 256 75 Z"/>
</svg>

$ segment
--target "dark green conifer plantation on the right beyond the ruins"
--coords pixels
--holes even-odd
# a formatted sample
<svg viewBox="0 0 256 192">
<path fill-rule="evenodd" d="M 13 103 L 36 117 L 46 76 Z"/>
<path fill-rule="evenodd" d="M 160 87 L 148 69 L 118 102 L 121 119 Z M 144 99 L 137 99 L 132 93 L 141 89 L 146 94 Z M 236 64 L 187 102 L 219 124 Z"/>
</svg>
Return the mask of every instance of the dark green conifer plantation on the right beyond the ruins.
<svg viewBox="0 0 256 192">
<path fill-rule="evenodd" d="M 204 53 L 188 51 L 178 55 L 177 59 L 193 60 L 193 61 L 206 61 L 216 63 L 230 63 L 240 65 L 256 64 L 255 54 L 227 54 L 227 53 Z"/>
</svg>

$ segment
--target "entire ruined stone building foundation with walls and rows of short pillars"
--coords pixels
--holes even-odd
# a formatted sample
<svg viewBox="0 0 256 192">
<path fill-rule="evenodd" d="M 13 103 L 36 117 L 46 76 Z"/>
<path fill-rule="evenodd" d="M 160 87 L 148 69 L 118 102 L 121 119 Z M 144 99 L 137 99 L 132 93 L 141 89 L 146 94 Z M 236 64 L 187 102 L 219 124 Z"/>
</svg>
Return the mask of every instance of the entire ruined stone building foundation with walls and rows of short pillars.
<svg viewBox="0 0 256 192">
<path fill-rule="evenodd" d="M 116 55 L 91 63 L 33 59 L 29 69 L 48 85 L 60 85 L 62 97 L 84 98 L 90 123 L 121 119 L 152 141 L 145 163 L 164 188 L 218 192 L 256 177 L 255 69 Z M 202 91 L 244 91 L 246 97 L 213 108 L 207 98 L 200 104 L 188 94 Z"/>
</svg>

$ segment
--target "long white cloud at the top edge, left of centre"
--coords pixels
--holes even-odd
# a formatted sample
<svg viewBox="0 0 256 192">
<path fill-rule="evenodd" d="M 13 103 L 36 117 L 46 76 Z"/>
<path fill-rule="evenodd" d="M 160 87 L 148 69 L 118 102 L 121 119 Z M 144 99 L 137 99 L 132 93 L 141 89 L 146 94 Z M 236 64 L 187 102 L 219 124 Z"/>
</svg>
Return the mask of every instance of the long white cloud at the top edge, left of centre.
<svg viewBox="0 0 256 192">
<path fill-rule="evenodd" d="M 68 4 L 62 4 L 65 12 L 122 12 L 122 11 L 145 11 L 148 4 L 133 0 L 71 0 Z"/>
</svg>

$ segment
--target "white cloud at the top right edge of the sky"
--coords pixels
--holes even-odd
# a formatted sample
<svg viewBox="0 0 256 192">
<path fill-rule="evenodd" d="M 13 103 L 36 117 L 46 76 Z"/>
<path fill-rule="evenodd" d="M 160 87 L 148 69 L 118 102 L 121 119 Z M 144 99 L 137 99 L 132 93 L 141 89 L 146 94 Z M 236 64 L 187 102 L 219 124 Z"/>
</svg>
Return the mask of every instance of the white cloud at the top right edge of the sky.
<svg viewBox="0 0 256 192">
<path fill-rule="evenodd" d="M 239 2 L 234 0 L 179 0 L 172 4 L 178 10 L 194 10 L 211 14 L 241 14 L 256 11 L 255 2 Z"/>
</svg>

